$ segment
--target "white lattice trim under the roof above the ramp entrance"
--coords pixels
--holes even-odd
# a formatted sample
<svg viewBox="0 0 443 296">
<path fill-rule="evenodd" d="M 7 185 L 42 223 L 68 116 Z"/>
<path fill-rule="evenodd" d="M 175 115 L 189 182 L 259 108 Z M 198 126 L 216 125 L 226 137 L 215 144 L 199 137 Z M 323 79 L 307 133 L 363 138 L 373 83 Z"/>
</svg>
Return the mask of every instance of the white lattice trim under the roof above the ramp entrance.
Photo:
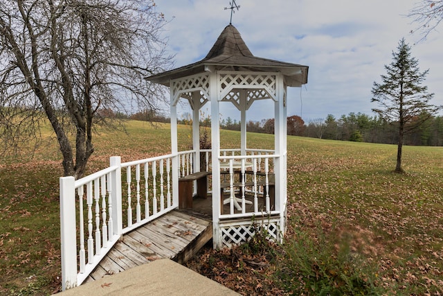
<svg viewBox="0 0 443 296">
<path fill-rule="evenodd" d="M 172 80 L 171 92 L 173 94 L 173 105 L 177 104 L 180 97 L 187 98 L 191 106 L 199 109 L 210 100 L 210 79 L 209 74 L 189 76 Z M 194 106 L 192 103 L 192 92 L 200 92 L 199 106 Z"/>
</svg>

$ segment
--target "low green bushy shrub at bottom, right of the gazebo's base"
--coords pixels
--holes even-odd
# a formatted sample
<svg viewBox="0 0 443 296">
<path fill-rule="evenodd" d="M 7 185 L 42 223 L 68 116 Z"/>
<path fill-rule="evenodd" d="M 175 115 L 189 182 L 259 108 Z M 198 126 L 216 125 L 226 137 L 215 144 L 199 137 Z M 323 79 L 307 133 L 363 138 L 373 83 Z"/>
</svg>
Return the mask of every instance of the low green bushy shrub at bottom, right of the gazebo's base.
<svg viewBox="0 0 443 296">
<path fill-rule="evenodd" d="M 374 284 L 376 269 L 347 241 L 330 243 L 321 229 L 317 238 L 296 232 L 296 239 L 282 247 L 275 281 L 282 288 L 303 295 L 380 295 Z"/>
</svg>

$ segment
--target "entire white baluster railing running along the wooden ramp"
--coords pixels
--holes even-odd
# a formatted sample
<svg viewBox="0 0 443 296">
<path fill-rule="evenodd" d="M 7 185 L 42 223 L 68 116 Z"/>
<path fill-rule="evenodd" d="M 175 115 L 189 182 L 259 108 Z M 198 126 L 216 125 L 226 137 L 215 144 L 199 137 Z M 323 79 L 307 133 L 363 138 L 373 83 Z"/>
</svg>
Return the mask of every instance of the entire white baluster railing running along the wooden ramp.
<svg viewBox="0 0 443 296">
<path fill-rule="evenodd" d="M 60 178 L 62 289 L 79 286 L 127 232 L 178 207 L 178 177 L 192 173 L 195 151 L 120 163 L 75 180 Z M 178 195 L 178 194 L 176 194 Z"/>
</svg>

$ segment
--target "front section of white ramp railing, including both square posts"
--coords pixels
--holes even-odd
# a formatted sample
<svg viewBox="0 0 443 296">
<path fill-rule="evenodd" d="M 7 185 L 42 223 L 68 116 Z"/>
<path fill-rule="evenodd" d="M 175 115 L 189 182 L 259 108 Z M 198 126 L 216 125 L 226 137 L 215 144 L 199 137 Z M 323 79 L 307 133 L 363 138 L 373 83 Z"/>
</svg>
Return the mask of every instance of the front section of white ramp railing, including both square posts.
<svg viewBox="0 0 443 296">
<path fill-rule="evenodd" d="M 121 204 L 120 157 L 80 180 L 60 178 L 63 290 L 82 284 L 118 241 Z"/>
</svg>

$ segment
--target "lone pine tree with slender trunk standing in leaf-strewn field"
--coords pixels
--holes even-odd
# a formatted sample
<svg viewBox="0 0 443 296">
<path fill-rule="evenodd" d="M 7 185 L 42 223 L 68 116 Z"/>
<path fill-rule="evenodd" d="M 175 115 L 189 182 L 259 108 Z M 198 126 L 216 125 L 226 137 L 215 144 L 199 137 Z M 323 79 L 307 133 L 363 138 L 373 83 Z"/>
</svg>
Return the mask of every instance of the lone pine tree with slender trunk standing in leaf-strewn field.
<svg viewBox="0 0 443 296">
<path fill-rule="evenodd" d="M 371 102 L 379 105 L 372 111 L 398 128 L 396 173 L 404 173 L 401 152 L 405 134 L 413 132 L 442 108 L 429 103 L 434 94 L 428 94 L 428 87 L 422 86 L 429 69 L 420 73 L 418 60 L 411 57 L 410 50 L 404 38 L 401 39 L 397 52 L 392 52 L 392 62 L 385 65 L 382 82 L 374 82 L 372 87 Z"/>
</svg>

